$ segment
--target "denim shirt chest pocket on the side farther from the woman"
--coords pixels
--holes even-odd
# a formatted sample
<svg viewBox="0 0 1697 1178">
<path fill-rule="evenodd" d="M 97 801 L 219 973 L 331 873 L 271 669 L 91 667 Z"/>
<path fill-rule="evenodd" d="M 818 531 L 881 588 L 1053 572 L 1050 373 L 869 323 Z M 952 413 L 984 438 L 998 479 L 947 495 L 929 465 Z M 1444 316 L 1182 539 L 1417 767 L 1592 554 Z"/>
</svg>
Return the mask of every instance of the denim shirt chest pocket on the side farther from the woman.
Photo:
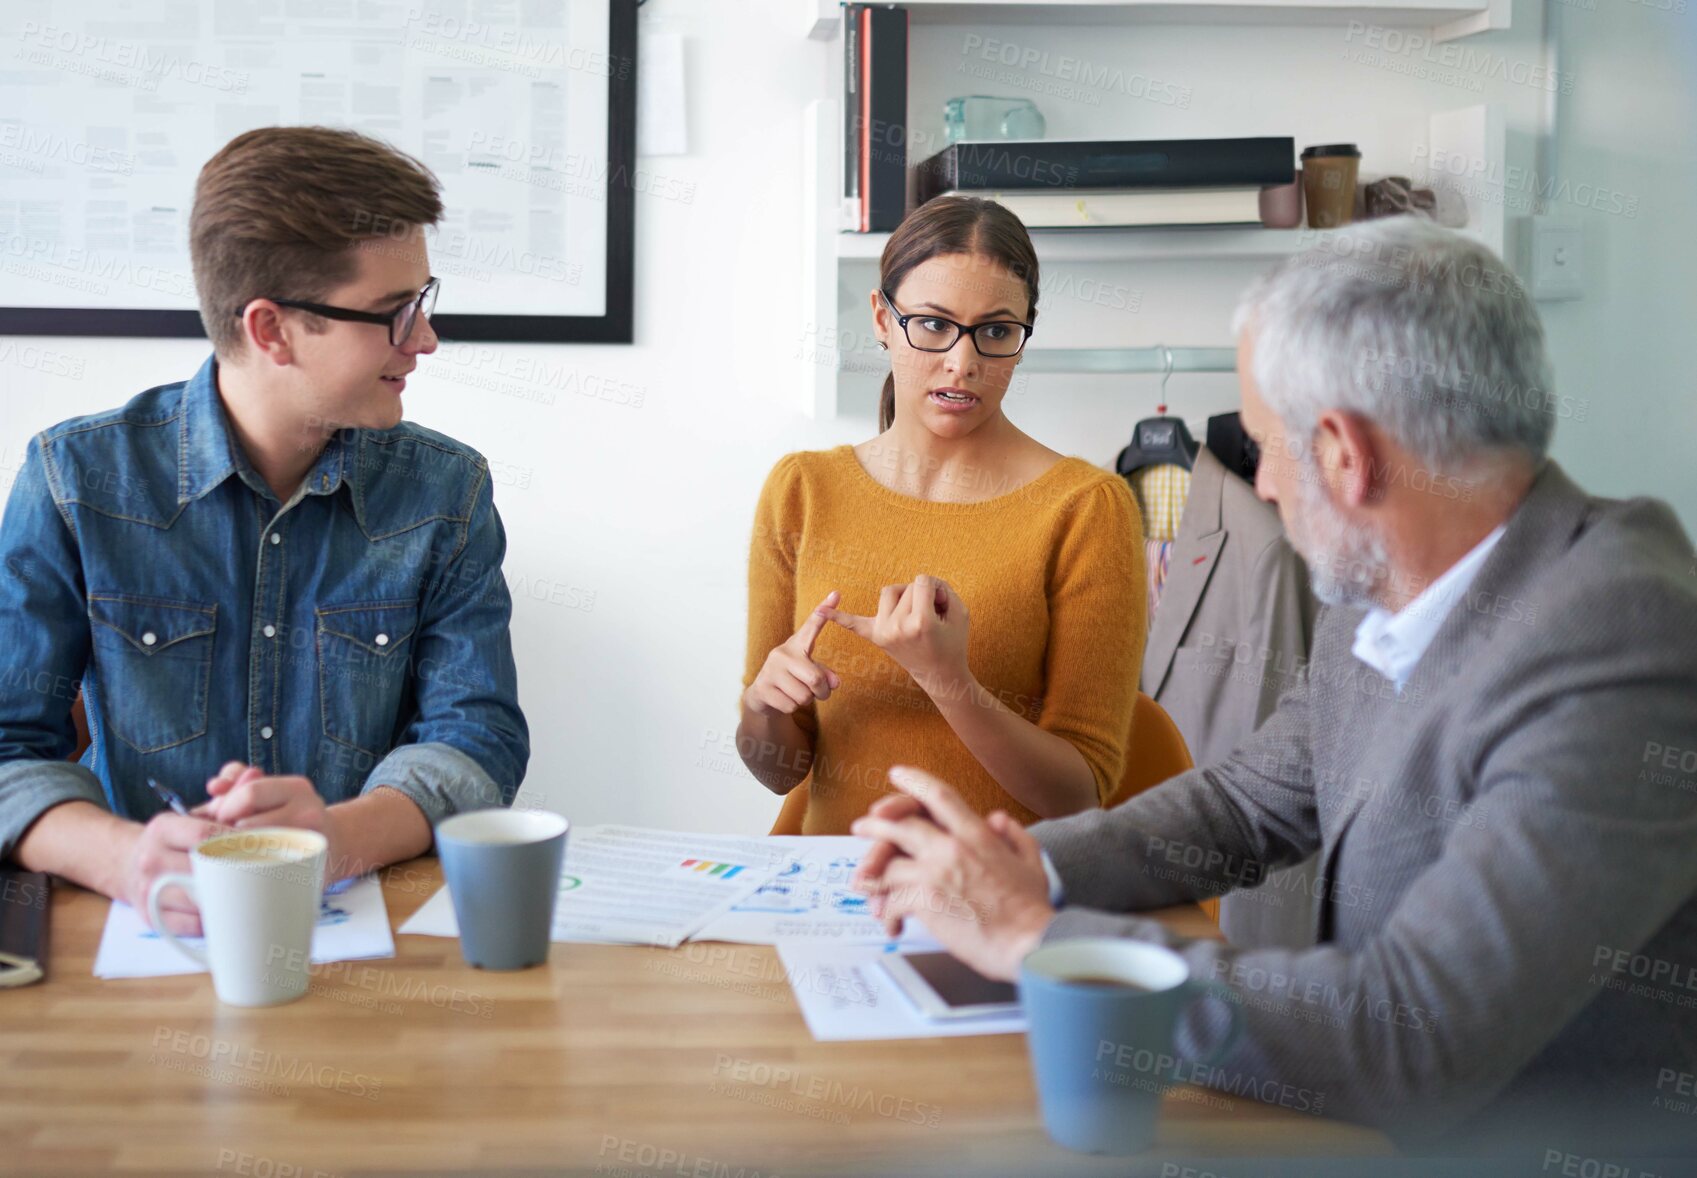
<svg viewBox="0 0 1697 1178">
<path fill-rule="evenodd" d="M 204 737 L 217 606 L 90 592 L 88 620 L 112 733 L 136 752 Z"/>
</svg>

